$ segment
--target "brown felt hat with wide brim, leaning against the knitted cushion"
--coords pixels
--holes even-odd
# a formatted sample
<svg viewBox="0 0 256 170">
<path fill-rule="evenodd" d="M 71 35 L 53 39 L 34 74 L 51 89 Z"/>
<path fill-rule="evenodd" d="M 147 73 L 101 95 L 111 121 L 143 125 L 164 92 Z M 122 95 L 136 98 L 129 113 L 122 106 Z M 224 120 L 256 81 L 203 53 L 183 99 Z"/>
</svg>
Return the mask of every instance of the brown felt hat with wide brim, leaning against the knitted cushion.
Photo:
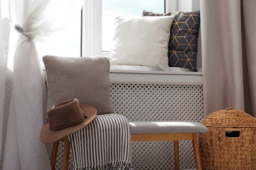
<svg viewBox="0 0 256 170">
<path fill-rule="evenodd" d="M 79 105 L 77 99 L 63 101 L 47 110 L 48 120 L 41 129 L 43 143 L 53 143 L 66 135 L 87 126 L 96 116 L 97 110 L 89 105 Z"/>
</svg>

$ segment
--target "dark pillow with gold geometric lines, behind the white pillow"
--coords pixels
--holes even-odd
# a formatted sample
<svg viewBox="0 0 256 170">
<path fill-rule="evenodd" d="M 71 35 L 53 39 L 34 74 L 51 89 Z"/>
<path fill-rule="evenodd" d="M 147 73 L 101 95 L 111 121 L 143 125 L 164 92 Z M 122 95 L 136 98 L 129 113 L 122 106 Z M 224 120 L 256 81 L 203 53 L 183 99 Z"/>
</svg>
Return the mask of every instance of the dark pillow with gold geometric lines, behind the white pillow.
<svg viewBox="0 0 256 170">
<path fill-rule="evenodd" d="M 200 29 L 200 10 L 195 12 L 168 12 L 160 14 L 143 10 L 142 16 L 175 16 L 171 24 L 169 39 L 169 67 L 196 69 L 198 36 Z"/>
</svg>

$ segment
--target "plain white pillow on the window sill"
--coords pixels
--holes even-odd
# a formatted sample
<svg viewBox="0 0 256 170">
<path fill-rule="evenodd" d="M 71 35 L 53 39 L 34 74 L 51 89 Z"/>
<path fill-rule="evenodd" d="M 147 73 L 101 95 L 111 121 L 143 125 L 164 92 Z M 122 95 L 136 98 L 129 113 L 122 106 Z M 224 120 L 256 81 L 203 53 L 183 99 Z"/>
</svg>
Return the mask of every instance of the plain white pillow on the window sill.
<svg viewBox="0 0 256 170">
<path fill-rule="evenodd" d="M 174 16 L 116 16 L 110 52 L 113 65 L 146 65 L 168 71 L 168 44 Z"/>
</svg>

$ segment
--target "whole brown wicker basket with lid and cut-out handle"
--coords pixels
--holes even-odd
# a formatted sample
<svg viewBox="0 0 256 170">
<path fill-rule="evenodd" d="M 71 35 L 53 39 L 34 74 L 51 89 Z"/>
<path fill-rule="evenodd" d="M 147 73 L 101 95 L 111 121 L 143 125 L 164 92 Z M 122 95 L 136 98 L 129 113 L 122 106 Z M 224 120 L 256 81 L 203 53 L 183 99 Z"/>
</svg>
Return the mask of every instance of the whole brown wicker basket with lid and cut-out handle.
<svg viewBox="0 0 256 170">
<path fill-rule="evenodd" d="M 256 118 L 232 108 L 209 114 L 198 135 L 203 169 L 256 169 Z"/>
</svg>

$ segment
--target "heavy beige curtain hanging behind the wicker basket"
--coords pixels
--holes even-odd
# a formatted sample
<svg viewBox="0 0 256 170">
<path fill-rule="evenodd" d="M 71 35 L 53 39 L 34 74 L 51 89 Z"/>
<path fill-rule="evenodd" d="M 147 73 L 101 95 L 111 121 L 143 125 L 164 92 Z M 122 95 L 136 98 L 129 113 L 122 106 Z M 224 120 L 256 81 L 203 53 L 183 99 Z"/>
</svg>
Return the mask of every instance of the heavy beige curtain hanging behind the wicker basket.
<svg viewBox="0 0 256 170">
<path fill-rule="evenodd" d="M 255 0 L 201 0 L 205 116 L 233 107 L 256 116 Z"/>
</svg>

